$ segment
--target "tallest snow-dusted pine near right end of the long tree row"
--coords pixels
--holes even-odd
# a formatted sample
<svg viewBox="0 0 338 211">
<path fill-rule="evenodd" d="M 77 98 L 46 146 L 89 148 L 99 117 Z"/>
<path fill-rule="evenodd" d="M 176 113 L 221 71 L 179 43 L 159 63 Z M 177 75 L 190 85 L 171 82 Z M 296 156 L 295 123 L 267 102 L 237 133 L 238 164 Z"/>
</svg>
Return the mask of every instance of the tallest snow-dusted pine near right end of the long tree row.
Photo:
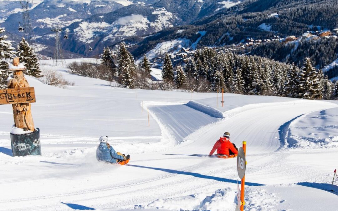
<svg viewBox="0 0 338 211">
<path fill-rule="evenodd" d="M 301 68 L 300 77 L 300 97 L 304 99 L 318 99 L 320 97 L 320 80 L 316 68 L 312 67 L 310 58 L 306 58 Z"/>
</svg>

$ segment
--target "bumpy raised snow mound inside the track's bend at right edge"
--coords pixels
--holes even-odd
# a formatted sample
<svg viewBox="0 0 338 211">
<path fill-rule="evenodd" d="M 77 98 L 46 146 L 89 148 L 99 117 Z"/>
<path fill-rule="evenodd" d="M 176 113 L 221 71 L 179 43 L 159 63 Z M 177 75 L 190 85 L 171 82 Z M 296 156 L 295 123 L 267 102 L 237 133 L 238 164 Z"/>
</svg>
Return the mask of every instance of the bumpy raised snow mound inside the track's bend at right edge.
<svg viewBox="0 0 338 211">
<path fill-rule="evenodd" d="M 289 125 L 285 148 L 338 147 L 338 108 L 299 116 Z"/>
</svg>

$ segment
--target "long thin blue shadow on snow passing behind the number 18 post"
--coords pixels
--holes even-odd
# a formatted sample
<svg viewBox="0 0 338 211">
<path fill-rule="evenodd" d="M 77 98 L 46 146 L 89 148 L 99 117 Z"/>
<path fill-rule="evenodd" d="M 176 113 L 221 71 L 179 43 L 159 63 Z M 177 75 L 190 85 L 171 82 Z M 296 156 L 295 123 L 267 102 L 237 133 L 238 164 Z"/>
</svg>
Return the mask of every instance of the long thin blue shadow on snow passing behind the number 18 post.
<svg viewBox="0 0 338 211">
<path fill-rule="evenodd" d="M 241 181 L 232 180 L 232 179 L 226 179 L 226 178 L 221 178 L 221 177 L 202 175 L 202 174 L 193 173 L 193 172 L 183 172 L 183 171 L 178 171 L 178 170 L 173 170 L 173 169 L 155 168 L 155 167 L 148 167 L 148 166 L 142 166 L 142 165 L 131 165 L 131 164 L 126 164 L 126 165 L 127 166 L 132 166 L 132 167 L 138 167 L 138 168 L 154 169 L 154 170 L 159 170 L 159 171 L 167 172 L 167 173 L 171 173 L 171 174 L 189 175 L 189 176 L 198 177 L 198 178 L 202 178 L 202 179 L 216 180 L 216 181 L 220 181 L 220 182 L 230 182 L 230 183 L 235 183 L 235 184 L 237 184 L 237 182 L 238 182 L 239 184 L 241 184 Z M 264 184 L 245 182 L 245 185 L 248 185 L 248 186 L 261 186 L 261 185 L 264 185 Z"/>
</svg>

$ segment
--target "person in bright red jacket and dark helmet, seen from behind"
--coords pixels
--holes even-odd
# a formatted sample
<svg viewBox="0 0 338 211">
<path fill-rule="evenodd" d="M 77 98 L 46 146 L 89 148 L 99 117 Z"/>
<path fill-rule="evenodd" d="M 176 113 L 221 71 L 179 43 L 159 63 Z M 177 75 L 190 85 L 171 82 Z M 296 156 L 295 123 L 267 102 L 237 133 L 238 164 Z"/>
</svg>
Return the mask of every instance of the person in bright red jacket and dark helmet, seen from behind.
<svg viewBox="0 0 338 211">
<path fill-rule="evenodd" d="M 230 155 L 237 155 L 238 151 L 235 144 L 231 143 L 230 141 L 230 133 L 225 132 L 223 137 L 220 137 L 214 147 L 209 153 L 209 156 L 212 156 L 217 149 L 218 156 L 230 156 Z"/>
</svg>

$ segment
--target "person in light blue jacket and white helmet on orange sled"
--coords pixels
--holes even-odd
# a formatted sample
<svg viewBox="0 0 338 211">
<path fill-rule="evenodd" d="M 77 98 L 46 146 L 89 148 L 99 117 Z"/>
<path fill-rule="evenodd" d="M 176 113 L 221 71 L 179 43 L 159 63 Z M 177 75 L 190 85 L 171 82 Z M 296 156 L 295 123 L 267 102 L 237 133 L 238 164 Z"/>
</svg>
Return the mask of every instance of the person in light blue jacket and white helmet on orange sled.
<svg viewBox="0 0 338 211">
<path fill-rule="evenodd" d="M 117 163 L 129 159 L 129 155 L 119 155 L 113 147 L 108 144 L 108 136 L 100 137 L 100 144 L 96 150 L 96 159 L 110 163 Z"/>
</svg>

